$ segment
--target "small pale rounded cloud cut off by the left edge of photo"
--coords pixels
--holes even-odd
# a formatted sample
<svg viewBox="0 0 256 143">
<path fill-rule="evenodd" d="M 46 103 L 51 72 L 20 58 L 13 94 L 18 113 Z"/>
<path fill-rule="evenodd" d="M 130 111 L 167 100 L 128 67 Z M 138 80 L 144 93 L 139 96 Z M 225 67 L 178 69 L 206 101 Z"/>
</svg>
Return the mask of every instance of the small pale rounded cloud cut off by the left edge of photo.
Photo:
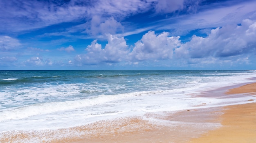
<svg viewBox="0 0 256 143">
<path fill-rule="evenodd" d="M 0 51 L 9 51 L 20 48 L 20 42 L 9 36 L 0 36 Z"/>
</svg>

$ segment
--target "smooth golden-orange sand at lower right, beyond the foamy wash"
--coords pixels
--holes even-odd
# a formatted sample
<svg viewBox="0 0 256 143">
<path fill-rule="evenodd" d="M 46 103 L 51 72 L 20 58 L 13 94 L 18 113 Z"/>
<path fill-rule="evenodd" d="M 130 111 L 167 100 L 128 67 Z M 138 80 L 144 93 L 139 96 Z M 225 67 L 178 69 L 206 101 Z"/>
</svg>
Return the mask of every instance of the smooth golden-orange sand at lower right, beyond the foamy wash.
<svg viewBox="0 0 256 143">
<path fill-rule="evenodd" d="M 241 93 L 256 95 L 256 83 L 226 92 L 226 94 Z M 255 101 L 254 99 L 250 101 Z M 256 102 L 226 106 L 225 113 L 220 116 L 220 119 L 222 120 L 221 128 L 191 139 L 189 143 L 256 143 Z"/>
</svg>

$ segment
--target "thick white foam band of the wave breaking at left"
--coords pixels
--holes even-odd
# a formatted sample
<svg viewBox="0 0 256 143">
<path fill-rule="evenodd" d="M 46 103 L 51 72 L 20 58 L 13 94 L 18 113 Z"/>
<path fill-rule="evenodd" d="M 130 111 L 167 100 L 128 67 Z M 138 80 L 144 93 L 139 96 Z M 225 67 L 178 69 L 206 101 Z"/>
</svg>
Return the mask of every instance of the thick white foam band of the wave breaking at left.
<svg viewBox="0 0 256 143">
<path fill-rule="evenodd" d="M 113 100 L 120 100 L 122 98 L 155 94 L 155 92 L 135 92 L 126 93 L 120 95 L 99 95 L 94 98 L 76 101 L 65 101 L 65 102 L 47 102 L 43 104 L 33 104 L 29 106 L 23 106 L 19 108 L 11 108 L 0 112 L 0 121 L 9 119 L 21 119 L 33 115 L 42 115 L 47 113 L 53 113 L 57 111 L 65 111 L 75 108 L 81 108 L 86 106 L 93 106 L 97 104 L 103 104 Z"/>
</svg>

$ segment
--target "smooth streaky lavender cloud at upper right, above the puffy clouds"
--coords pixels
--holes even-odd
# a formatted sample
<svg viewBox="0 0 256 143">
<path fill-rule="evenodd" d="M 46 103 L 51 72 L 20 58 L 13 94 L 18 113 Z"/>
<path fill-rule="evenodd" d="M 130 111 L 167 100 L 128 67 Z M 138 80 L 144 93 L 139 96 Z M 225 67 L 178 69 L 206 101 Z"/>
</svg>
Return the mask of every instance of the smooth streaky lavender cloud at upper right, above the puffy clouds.
<svg viewBox="0 0 256 143">
<path fill-rule="evenodd" d="M 184 1 L 185 3 L 188 1 Z M 225 5 L 225 6 L 223 6 Z M 242 20 L 250 17 L 255 19 L 256 1 L 214 2 L 209 5 L 198 7 L 196 13 L 177 15 L 175 17 L 159 20 L 156 30 L 174 30 L 174 35 L 185 35 L 195 29 L 222 27 L 225 25 L 239 24 Z M 201 8 L 201 9 L 200 9 Z M 193 10 L 195 11 L 195 10 Z"/>
</svg>

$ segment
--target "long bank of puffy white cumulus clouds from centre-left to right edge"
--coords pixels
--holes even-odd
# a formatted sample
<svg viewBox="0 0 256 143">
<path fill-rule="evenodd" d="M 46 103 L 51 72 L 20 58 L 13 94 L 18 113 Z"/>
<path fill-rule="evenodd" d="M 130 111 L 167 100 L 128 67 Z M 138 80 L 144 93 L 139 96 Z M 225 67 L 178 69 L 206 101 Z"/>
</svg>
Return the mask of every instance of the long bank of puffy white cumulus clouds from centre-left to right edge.
<svg viewBox="0 0 256 143">
<path fill-rule="evenodd" d="M 129 49 L 124 37 L 111 34 L 106 37 L 108 44 L 104 48 L 94 40 L 85 49 L 86 54 L 75 57 L 76 63 L 138 64 L 138 61 L 186 59 L 189 64 L 207 65 L 220 61 L 224 65 L 232 61 L 226 58 L 233 58 L 232 62 L 235 63 L 238 62 L 237 57 L 240 59 L 239 63 L 242 59 L 247 59 L 245 63 L 248 64 L 249 56 L 243 54 L 256 54 L 256 20 L 250 19 L 245 19 L 238 25 L 212 29 L 207 37 L 193 35 L 186 43 L 182 43 L 179 36 L 170 37 L 168 32 L 155 34 L 154 31 L 148 31 Z"/>
</svg>

